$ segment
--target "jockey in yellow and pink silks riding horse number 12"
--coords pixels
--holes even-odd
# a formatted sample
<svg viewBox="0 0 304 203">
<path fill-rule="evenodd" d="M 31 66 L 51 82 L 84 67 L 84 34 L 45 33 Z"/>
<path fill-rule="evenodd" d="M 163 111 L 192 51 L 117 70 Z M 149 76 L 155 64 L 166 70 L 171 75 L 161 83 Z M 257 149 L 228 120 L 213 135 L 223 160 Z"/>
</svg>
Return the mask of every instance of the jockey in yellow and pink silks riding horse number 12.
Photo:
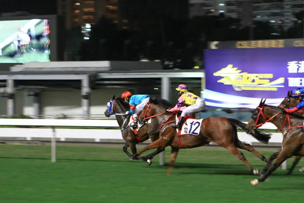
<svg viewBox="0 0 304 203">
<path fill-rule="evenodd" d="M 178 95 L 180 96 L 178 98 L 178 103 L 175 107 L 173 107 L 172 109 L 168 109 L 166 112 L 174 112 L 178 109 L 182 111 L 177 125 L 172 126 L 173 128 L 180 129 L 186 114 L 191 115 L 191 113 L 202 111 L 205 109 L 206 104 L 202 98 L 191 92 L 188 92 L 188 88 L 184 84 L 178 85 L 176 90 L 178 91 Z"/>
</svg>

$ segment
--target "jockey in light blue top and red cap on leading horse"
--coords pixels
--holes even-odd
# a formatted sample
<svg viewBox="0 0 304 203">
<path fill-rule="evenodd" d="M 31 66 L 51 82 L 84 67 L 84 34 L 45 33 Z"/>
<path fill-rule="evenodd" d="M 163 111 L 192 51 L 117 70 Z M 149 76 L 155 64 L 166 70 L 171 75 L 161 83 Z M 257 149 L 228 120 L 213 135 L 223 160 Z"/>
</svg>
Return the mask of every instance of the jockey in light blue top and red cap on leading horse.
<svg viewBox="0 0 304 203">
<path fill-rule="evenodd" d="M 127 111 L 126 114 L 133 114 L 134 123 L 130 125 L 130 127 L 137 127 L 137 114 L 139 114 L 143 110 L 144 106 L 149 102 L 150 96 L 147 94 L 132 95 L 131 92 L 125 91 L 122 94 L 122 98 L 124 98 L 130 105 L 130 111 Z"/>
</svg>

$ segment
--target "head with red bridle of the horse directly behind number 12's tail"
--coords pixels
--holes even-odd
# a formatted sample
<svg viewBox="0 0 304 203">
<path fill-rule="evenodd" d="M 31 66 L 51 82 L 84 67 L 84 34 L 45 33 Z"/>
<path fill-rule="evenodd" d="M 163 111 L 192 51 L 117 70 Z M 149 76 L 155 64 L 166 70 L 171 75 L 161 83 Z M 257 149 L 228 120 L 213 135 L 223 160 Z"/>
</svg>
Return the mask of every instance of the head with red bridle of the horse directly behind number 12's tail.
<svg viewBox="0 0 304 203">
<path fill-rule="evenodd" d="M 262 98 L 258 107 L 253 111 L 252 116 L 245 127 L 246 132 L 250 132 L 254 127 L 257 128 L 261 126 L 267 120 L 264 115 L 265 101 L 266 99 L 263 101 Z"/>
</svg>

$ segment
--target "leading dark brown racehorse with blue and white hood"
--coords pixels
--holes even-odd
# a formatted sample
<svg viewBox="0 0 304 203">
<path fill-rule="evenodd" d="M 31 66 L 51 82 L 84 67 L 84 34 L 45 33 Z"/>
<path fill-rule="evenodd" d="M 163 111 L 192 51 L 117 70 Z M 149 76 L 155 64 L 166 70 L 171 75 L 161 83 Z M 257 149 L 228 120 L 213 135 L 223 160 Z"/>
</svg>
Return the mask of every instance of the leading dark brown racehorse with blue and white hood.
<svg viewBox="0 0 304 203">
<path fill-rule="evenodd" d="M 165 101 L 164 104 L 168 108 L 172 107 L 169 101 Z M 104 114 L 106 117 L 116 115 L 116 120 L 121 128 L 123 139 L 127 142 L 123 147 L 123 151 L 129 156 L 130 159 L 137 159 L 137 157 L 134 156 L 137 152 L 136 144 L 142 143 L 148 139 L 150 139 L 152 142 L 156 141 L 159 138 L 160 126 L 155 119 L 151 119 L 150 123 L 144 124 L 137 130 L 135 129 L 137 131 L 137 134 L 135 134 L 136 131 L 134 131 L 134 129 L 132 130 L 128 125 L 130 116 L 125 114 L 125 112 L 129 109 L 130 106 L 124 101 L 124 99 L 116 98 L 115 95 L 113 95 Z M 128 152 L 128 147 L 130 147 L 132 154 Z M 148 164 L 150 165 L 151 159 L 164 150 L 165 148 L 160 147 L 155 152 L 149 154 L 147 159 L 142 157 L 139 157 L 139 159 L 147 160 Z"/>
</svg>

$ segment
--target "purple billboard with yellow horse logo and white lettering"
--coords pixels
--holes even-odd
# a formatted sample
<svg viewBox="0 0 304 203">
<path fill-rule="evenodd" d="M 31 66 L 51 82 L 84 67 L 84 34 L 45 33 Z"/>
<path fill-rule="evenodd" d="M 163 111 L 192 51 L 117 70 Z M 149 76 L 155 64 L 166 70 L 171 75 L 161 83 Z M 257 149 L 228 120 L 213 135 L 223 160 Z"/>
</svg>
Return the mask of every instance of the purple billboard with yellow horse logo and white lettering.
<svg viewBox="0 0 304 203">
<path fill-rule="evenodd" d="M 304 86 L 304 47 L 205 50 L 207 107 L 254 109 L 261 98 L 278 106 Z"/>
</svg>

